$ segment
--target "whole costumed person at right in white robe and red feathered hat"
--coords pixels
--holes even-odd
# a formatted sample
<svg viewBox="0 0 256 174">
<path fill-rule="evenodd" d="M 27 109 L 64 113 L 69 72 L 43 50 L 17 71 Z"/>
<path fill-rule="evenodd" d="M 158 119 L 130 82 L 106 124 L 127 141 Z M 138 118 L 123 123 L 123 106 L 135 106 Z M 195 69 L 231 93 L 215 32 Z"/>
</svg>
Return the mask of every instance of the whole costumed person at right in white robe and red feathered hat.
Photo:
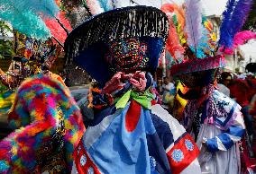
<svg viewBox="0 0 256 174">
<path fill-rule="evenodd" d="M 228 3 L 230 11 L 224 15 L 229 13 L 230 17 L 236 7 L 231 4 L 233 1 Z M 184 126 L 200 149 L 202 173 L 238 174 L 241 162 L 237 143 L 245 132 L 241 107 L 215 87 L 219 68 L 225 65 L 224 57 L 217 51 L 219 46 L 226 47 L 225 41 L 232 42 L 230 33 L 224 31 L 233 32 L 233 25 L 223 22 L 228 28 L 221 28 L 221 38 L 216 43 L 211 22 L 202 16 L 200 1 L 186 0 L 183 7 L 164 4 L 161 9 L 169 16 L 169 30 L 174 31 L 167 43 L 174 59 L 170 74 L 188 88 L 184 93 L 178 91 L 187 100 Z"/>
</svg>

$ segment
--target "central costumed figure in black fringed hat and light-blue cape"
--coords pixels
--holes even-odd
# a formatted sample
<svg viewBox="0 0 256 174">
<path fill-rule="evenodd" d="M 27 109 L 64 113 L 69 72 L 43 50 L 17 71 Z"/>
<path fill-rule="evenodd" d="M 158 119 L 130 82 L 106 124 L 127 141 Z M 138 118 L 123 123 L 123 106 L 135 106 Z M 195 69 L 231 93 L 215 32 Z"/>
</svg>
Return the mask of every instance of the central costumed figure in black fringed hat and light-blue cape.
<svg viewBox="0 0 256 174">
<path fill-rule="evenodd" d="M 74 152 L 72 173 L 201 173 L 197 144 L 151 93 L 168 24 L 157 8 L 123 7 L 100 13 L 69 34 L 66 57 L 113 97 L 94 109 Z"/>
</svg>

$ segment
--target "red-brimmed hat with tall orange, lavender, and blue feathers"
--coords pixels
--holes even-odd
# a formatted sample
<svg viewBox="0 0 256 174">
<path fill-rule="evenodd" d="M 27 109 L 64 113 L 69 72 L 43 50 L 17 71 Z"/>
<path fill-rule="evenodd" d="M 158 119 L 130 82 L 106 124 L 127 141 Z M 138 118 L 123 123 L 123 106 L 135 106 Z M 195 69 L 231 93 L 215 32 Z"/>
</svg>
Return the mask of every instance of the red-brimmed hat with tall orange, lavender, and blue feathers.
<svg viewBox="0 0 256 174">
<path fill-rule="evenodd" d="M 161 7 L 169 16 L 169 30 L 172 31 L 167 41 L 167 51 L 173 58 L 172 62 L 169 61 L 172 64 L 171 75 L 179 77 L 187 87 L 206 86 L 214 82 L 216 69 L 225 65 L 224 57 L 217 51 L 222 46 L 232 47 L 233 37 L 241 30 L 251 8 L 251 0 L 242 2 L 228 1 L 218 42 L 211 22 L 202 14 L 200 1 L 186 0 L 185 8 L 177 7 L 177 4 Z M 182 18 L 182 13 L 185 13 L 186 19 Z M 237 20 L 238 14 L 242 19 Z"/>
</svg>

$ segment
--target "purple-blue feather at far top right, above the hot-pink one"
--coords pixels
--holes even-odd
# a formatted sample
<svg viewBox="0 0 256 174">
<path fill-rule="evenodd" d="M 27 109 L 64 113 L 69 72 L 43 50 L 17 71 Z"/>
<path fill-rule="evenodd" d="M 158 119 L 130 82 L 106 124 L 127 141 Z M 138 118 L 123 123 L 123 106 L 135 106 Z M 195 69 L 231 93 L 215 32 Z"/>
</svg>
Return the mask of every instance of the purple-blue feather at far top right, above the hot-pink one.
<svg viewBox="0 0 256 174">
<path fill-rule="evenodd" d="M 230 21 L 232 26 L 231 37 L 242 29 L 244 22 L 247 19 L 248 14 L 251 11 L 251 5 L 253 0 L 239 0 L 233 10 L 233 15 Z"/>
</svg>

